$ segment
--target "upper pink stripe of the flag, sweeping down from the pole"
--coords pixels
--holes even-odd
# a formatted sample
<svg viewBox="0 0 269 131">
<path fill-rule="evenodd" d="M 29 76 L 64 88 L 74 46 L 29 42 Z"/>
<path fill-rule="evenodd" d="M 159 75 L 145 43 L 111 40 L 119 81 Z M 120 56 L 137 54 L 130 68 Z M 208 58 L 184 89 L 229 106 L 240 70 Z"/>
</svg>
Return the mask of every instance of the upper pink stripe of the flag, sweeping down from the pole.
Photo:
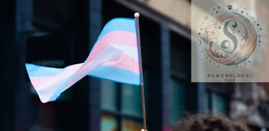
<svg viewBox="0 0 269 131">
<path fill-rule="evenodd" d="M 95 56 L 97 56 L 102 50 L 111 44 L 121 44 L 137 47 L 136 33 L 128 31 L 112 31 L 104 35 L 101 39 L 99 39 L 99 41 L 97 41 L 90 56 L 87 58 L 87 61 L 83 63 L 76 74 L 66 84 L 65 88 L 77 76 L 77 73 L 79 73 Z"/>
</svg>

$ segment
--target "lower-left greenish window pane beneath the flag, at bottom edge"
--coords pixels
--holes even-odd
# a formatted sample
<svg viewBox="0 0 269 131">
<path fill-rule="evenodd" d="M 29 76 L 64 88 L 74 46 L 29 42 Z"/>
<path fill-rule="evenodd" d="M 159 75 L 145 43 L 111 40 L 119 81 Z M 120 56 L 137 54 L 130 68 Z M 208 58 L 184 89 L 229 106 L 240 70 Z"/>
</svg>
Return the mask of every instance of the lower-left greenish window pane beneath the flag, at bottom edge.
<svg viewBox="0 0 269 131">
<path fill-rule="evenodd" d="M 118 121 L 116 117 L 110 115 L 101 116 L 101 131 L 117 131 Z"/>
</svg>

